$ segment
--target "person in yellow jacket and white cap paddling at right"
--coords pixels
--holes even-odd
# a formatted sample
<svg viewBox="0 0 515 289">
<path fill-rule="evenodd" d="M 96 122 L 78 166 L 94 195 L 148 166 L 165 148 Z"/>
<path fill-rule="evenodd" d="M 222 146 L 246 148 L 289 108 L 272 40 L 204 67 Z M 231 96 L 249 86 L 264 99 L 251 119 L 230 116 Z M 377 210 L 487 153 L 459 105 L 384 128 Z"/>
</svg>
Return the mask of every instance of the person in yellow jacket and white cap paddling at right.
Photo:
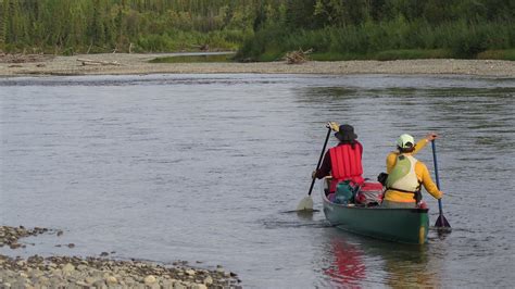
<svg viewBox="0 0 515 289">
<path fill-rule="evenodd" d="M 391 152 L 387 156 L 387 191 L 382 206 L 416 208 L 422 200 L 422 185 L 436 199 L 442 198 L 443 192 L 432 181 L 427 166 L 413 156 L 436 137 L 429 134 L 416 144 L 410 135 L 404 134 L 399 137 L 397 140 L 399 151 Z"/>
</svg>

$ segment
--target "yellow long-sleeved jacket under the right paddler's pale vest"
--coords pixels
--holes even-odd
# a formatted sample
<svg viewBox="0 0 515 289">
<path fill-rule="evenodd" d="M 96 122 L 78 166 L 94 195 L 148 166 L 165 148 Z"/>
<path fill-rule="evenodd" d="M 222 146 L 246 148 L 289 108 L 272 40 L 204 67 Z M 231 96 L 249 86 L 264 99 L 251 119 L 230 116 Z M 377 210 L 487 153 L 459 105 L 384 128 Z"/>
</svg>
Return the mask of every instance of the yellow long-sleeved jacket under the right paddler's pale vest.
<svg viewBox="0 0 515 289">
<path fill-rule="evenodd" d="M 410 154 L 413 155 L 419 152 L 424 147 L 426 147 L 427 142 L 428 141 L 426 139 L 419 140 L 415 146 L 415 150 Z M 393 167 L 395 166 L 398 156 L 399 156 L 398 151 L 390 152 L 390 154 L 388 154 L 387 156 L 387 173 L 388 174 L 390 174 Z M 435 183 L 432 181 L 431 176 L 429 175 L 429 171 L 427 169 L 427 166 L 423 162 L 420 161 L 416 162 L 415 174 L 418 179 L 418 183 L 422 183 L 424 185 L 424 188 L 426 188 L 426 190 L 432 197 L 437 199 L 442 198 L 442 192 L 438 189 L 437 185 L 435 185 Z M 415 202 L 415 199 L 413 199 L 413 193 L 402 192 L 398 190 L 387 190 L 385 193 L 385 200 L 392 201 L 392 202 Z"/>
</svg>

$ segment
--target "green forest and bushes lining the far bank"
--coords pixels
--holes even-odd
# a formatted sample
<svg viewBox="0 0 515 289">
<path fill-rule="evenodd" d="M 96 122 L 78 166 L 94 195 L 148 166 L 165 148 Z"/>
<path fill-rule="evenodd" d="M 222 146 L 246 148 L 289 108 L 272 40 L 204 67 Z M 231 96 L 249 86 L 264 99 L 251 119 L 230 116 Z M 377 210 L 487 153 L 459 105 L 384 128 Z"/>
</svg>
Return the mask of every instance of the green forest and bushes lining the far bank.
<svg viewBox="0 0 515 289">
<path fill-rule="evenodd" d="M 512 0 L 0 0 L 0 50 L 515 60 Z"/>
</svg>

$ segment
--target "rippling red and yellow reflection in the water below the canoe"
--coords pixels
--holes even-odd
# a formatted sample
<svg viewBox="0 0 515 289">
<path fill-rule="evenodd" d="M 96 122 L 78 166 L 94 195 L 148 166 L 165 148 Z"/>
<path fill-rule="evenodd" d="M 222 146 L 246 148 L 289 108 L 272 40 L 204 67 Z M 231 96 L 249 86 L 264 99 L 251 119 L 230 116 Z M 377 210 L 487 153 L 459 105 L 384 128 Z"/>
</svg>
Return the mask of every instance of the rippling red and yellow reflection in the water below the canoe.
<svg viewBox="0 0 515 289">
<path fill-rule="evenodd" d="M 328 237 L 323 272 L 331 287 L 441 287 L 445 251 L 442 248 L 380 241 L 340 231 Z"/>
</svg>

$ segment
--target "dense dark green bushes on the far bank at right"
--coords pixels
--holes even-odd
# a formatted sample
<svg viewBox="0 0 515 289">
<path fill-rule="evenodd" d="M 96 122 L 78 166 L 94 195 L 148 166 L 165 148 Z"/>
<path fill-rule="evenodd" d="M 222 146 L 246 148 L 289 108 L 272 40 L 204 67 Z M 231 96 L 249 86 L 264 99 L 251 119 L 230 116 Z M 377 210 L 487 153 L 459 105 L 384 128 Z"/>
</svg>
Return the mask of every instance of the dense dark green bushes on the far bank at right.
<svg viewBox="0 0 515 289">
<path fill-rule="evenodd" d="M 475 59 L 487 50 L 514 47 L 514 23 L 456 21 L 432 26 L 424 20 L 298 29 L 286 34 L 279 27 L 261 30 L 247 39 L 238 59 L 279 59 L 286 52 L 314 49 L 314 60 L 348 59 Z M 271 58 L 269 55 L 275 55 Z M 493 53 L 490 55 L 498 55 Z"/>
</svg>

